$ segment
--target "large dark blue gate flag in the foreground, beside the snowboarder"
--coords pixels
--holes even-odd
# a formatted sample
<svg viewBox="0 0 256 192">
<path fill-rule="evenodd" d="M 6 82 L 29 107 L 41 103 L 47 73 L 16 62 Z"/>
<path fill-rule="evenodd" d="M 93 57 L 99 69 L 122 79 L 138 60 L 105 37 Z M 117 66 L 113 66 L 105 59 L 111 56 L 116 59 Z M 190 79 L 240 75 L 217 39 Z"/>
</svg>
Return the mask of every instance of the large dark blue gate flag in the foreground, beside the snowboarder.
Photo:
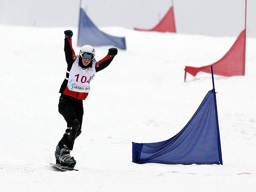
<svg viewBox="0 0 256 192">
<path fill-rule="evenodd" d="M 216 93 L 209 91 L 186 126 L 157 143 L 132 142 L 132 162 L 222 164 Z"/>
</svg>

